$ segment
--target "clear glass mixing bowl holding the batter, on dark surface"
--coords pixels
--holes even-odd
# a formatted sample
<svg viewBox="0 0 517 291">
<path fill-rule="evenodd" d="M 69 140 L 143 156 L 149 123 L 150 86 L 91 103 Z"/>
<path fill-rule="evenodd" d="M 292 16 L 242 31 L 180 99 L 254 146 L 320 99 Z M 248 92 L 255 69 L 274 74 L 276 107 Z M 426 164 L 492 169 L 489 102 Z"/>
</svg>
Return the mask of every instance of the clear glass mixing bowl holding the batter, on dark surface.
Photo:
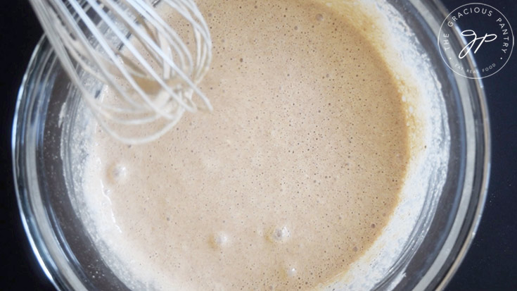
<svg viewBox="0 0 517 291">
<path fill-rule="evenodd" d="M 461 263 L 480 221 L 490 170 L 490 132 L 480 80 L 452 73 L 442 61 L 437 33 L 447 11 L 438 1 L 390 0 L 433 64 L 445 97 L 450 133 L 447 179 L 433 209 L 424 209 L 403 252 L 376 290 L 435 290 Z M 464 47 L 451 31 L 454 51 Z M 465 68 L 474 60 L 463 59 Z M 80 97 L 46 39 L 32 55 L 18 94 L 13 165 L 18 205 L 30 244 L 59 290 L 127 290 L 103 262 L 75 213 L 71 128 L 79 126 Z M 64 118 L 72 116 L 72 118 Z M 62 158 L 63 157 L 63 158 Z M 77 174 L 77 173 L 75 173 Z"/>
</svg>

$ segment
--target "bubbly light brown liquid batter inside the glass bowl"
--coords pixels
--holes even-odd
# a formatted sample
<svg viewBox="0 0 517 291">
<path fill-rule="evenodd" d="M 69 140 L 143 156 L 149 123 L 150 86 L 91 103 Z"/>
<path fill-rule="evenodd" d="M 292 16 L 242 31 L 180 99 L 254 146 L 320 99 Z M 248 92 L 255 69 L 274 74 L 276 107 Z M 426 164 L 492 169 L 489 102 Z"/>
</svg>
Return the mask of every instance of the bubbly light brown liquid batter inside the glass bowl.
<svg viewBox="0 0 517 291">
<path fill-rule="evenodd" d="M 151 144 L 94 136 L 85 183 L 113 211 L 114 253 L 171 290 L 329 283 L 376 240 L 404 182 L 390 69 L 314 0 L 197 3 L 214 40 L 201 89 L 215 110 Z"/>
</svg>

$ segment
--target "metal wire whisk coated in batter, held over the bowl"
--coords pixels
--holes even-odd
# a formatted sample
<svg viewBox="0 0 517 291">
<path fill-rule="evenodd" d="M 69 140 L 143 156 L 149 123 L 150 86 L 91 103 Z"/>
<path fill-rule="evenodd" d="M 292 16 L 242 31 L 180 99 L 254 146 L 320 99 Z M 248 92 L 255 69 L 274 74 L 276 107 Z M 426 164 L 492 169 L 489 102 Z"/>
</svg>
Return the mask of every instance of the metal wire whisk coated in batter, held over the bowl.
<svg viewBox="0 0 517 291">
<path fill-rule="evenodd" d="M 66 73 L 98 123 L 117 140 L 157 139 L 185 111 L 198 109 L 196 96 L 199 108 L 212 110 L 198 88 L 210 66 L 212 41 L 192 0 L 30 2 Z M 174 30 L 157 7 L 174 11 L 174 27 L 192 33 Z M 99 98 L 99 84 L 113 89 L 114 101 Z M 132 130 L 136 127 L 145 128 Z"/>
</svg>

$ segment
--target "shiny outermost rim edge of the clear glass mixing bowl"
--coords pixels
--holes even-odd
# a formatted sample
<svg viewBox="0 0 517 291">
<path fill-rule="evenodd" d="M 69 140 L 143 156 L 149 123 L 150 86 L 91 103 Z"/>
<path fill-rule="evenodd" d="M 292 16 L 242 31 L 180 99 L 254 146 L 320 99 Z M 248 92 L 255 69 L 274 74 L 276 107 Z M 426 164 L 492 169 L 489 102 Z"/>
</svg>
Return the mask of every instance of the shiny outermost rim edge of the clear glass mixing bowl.
<svg viewBox="0 0 517 291">
<path fill-rule="evenodd" d="M 436 2 L 437 0 L 433 0 L 433 2 Z M 412 1 L 411 1 L 412 2 Z M 438 1 L 438 4 L 440 2 Z M 440 4 L 442 5 L 442 4 Z M 443 7 L 443 6 L 442 6 Z M 440 11 L 440 13 L 443 13 L 444 11 Z M 445 14 L 446 16 L 447 14 Z M 445 17 L 444 16 L 444 17 Z M 45 51 L 47 49 L 47 51 Z M 25 111 L 21 111 L 22 109 L 25 109 L 25 105 L 23 104 L 23 101 L 27 102 L 27 86 L 28 81 L 30 80 L 32 73 L 35 68 L 37 68 L 37 59 L 42 54 L 53 54 L 53 51 L 51 48 L 49 48 L 48 41 L 45 36 L 42 36 L 39 39 L 39 42 L 37 43 L 36 47 L 34 48 L 34 51 L 32 52 L 32 56 L 30 57 L 29 65 L 27 66 L 27 70 L 25 70 L 25 73 L 23 75 L 23 80 L 20 84 L 20 89 L 18 91 L 17 101 L 15 105 L 15 114 L 13 116 L 13 125 L 12 125 L 12 135 L 11 135 L 11 156 L 13 161 L 13 178 L 14 178 L 14 184 L 15 184 L 15 193 L 17 197 L 18 202 L 18 210 L 20 212 L 20 218 L 23 223 L 23 228 L 25 230 L 25 233 L 27 235 L 27 239 L 30 242 L 30 247 L 32 249 L 32 252 L 34 253 L 34 256 L 36 256 L 37 261 L 39 265 L 41 266 L 42 270 L 46 274 L 47 278 L 51 281 L 54 287 L 56 287 L 57 290 L 66 290 L 68 288 L 68 283 L 64 281 L 64 279 L 61 277 L 61 275 L 58 273 L 60 270 L 56 269 L 56 264 L 54 264 L 53 259 L 49 255 L 49 251 L 47 249 L 46 244 L 42 243 L 42 233 L 41 229 L 37 225 L 37 222 L 33 219 L 34 218 L 34 212 L 30 206 L 30 199 L 27 199 L 27 197 L 30 197 L 30 194 L 28 194 L 27 189 L 27 178 L 25 177 L 24 166 L 25 166 L 25 154 L 23 154 L 23 151 L 25 150 L 25 138 L 22 136 L 25 133 L 25 129 L 23 127 L 18 126 L 18 123 L 20 125 L 26 125 L 25 121 Z M 471 64 L 474 63 L 473 59 L 469 60 Z M 490 134 L 490 120 L 489 120 L 489 113 L 487 109 L 487 99 L 486 94 L 483 89 L 483 81 L 481 79 L 475 79 L 470 82 L 473 82 L 475 84 L 475 89 L 477 91 L 478 96 L 475 98 L 476 101 L 479 102 L 480 107 L 480 116 L 483 118 L 480 123 L 482 127 L 483 132 L 483 161 L 480 161 L 483 163 L 483 173 L 482 177 L 476 178 L 476 180 L 480 181 L 480 187 L 479 187 L 479 193 L 473 193 L 478 194 L 478 203 L 476 204 L 475 211 L 473 213 L 473 218 L 471 221 L 468 221 L 470 226 L 468 227 L 468 232 L 466 233 L 466 237 L 464 237 L 463 241 L 461 242 L 461 247 L 459 249 L 459 252 L 454 256 L 454 260 L 449 264 L 449 267 L 445 273 L 445 275 L 440 278 L 440 281 L 438 285 L 436 286 L 437 290 L 442 290 L 445 288 L 447 283 L 452 279 L 454 274 L 457 272 L 461 262 L 464 260 L 464 257 L 466 256 L 466 253 L 471 246 L 473 242 L 473 238 L 475 237 L 475 233 L 478 229 L 478 226 L 480 224 L 483 209 L 485 206 L 485 201 L 487 199 L 487 190 L 488 190 L 488 182 L 490 180 L 490 166 L 491 166 L 491 134 Z M 477 128 L 477 127 L 476 127 Z M 21 138 L 21 140 L 20 140 Z M 478 150 L 478 149 L 476 149 Z M 474 192 L 474 191 L 473 191 Z M 465 222 L 465 219 L 464 219 Z M 463 228 L 463 225 L 460 225 L 461 228 Z M 452 230 L 451 230 L 452 231 Z M 459 231 L 459 230 L 458 230 Z M 450 235 L 450 233 L 449 233 Z M 447 235 L 447 237 L 449 237 Z M 457 237 L 459 238 L 459 237 Z M 442 251 L 440 251 L 441 253 Z M 450 250 L 449 250 L 450 253 Z M 449 255 L 449 254 L 447 254 Z M 430 267 L 434 267 L 434 264 Z M 440 268 L 442 266 L 438 266 L 439 268 L 436 269 L 436 273 L 440 271 Z M 429 270 L 426 272 L 428 273 Z M 418 289 L 418 288 L 416 288 Z"/>
</svg>

